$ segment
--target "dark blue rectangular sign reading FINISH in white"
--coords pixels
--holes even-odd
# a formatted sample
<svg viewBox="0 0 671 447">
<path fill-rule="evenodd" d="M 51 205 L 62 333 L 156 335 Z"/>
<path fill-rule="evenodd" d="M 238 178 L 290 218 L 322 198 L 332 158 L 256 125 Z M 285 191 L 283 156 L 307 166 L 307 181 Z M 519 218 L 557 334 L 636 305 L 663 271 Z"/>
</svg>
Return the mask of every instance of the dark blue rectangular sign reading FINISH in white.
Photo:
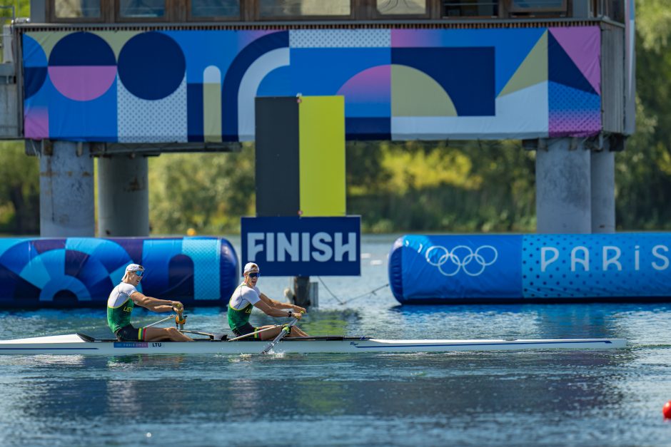
<svg viewBox="0 0 671 447">
<path fill-rule="evenodd" d="M 242 264 L 266 276 L 361 273 L 361 220 L 350 217 L 243 217 Z"/>
</svg>

